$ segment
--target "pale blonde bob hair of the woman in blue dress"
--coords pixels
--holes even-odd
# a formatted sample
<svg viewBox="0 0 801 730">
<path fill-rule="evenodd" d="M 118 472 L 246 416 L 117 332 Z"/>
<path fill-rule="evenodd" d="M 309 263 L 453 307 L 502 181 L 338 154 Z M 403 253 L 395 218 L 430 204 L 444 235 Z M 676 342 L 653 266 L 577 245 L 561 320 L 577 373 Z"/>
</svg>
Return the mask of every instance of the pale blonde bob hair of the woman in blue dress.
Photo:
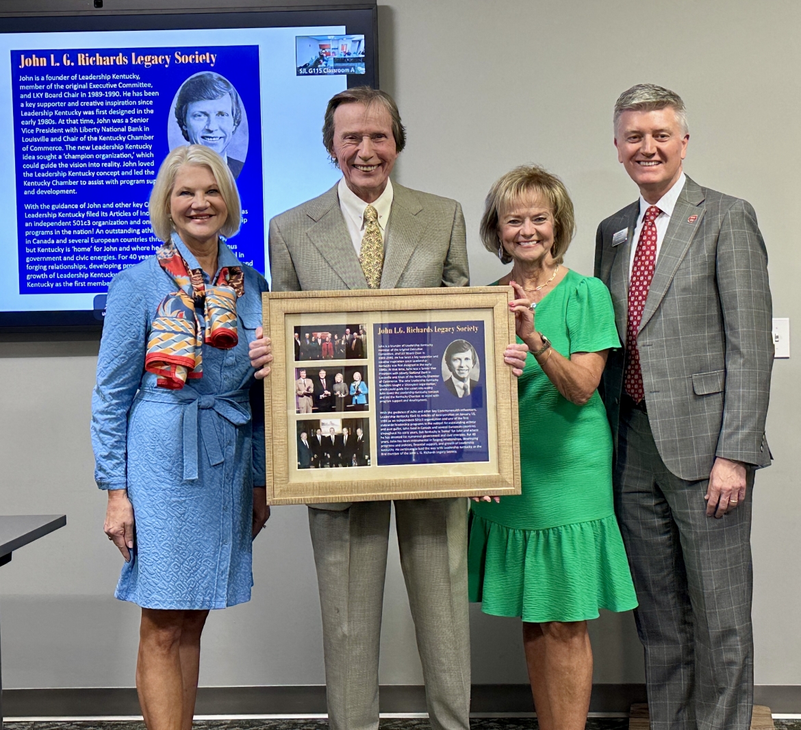
<svg viewBox="0 0 801 730">
<path fill-rule="evenodd" d="M 231 169 L 214 150 L 203 147 L 202 144 L 188 144 L 175 147 L 167 157 L 164 158 L 159 175 L 156 176 L 151 192 L 150 217 L 153 232 L 159 240 L 168 241 L 175 226 L 170 217 L 170 197 L 172 188 L 175 187 L 175 176 L 182 165 L 199 165 L 208 167 L 214 179 L 217 181 L 219 194 L 223 196 L 228 217 L 219 229 L 221 236 L 231 238 L 239 231 L 239 221 L 242 217 L 242 205 L 239 203 L 239 191 L 236 189 L 234 176 Z"/>
</svg>

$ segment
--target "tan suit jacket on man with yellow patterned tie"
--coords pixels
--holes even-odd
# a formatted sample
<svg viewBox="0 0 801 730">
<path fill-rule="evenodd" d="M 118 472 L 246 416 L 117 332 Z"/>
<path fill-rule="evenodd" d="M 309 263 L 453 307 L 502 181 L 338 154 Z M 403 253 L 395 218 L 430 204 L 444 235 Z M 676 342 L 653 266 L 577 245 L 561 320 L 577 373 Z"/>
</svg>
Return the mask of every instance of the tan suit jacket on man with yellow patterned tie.
<svg viewBox="0 0 801 730">
<path fill-rule="evenodd" d="M 366 289 L 336 185 L 270 221 L 273 292 Z M 465 216 L 456 200 L 392 184 L 381 288 L 468 286 Z"/>
</svg>

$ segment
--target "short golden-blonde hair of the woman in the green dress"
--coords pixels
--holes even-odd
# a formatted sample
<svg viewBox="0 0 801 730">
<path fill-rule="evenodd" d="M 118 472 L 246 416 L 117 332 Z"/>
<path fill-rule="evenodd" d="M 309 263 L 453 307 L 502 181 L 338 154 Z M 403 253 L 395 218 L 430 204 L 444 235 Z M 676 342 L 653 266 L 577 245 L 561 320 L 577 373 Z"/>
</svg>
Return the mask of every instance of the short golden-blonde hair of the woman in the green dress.
<svg viewBox="0 0 801 730">
<path fill-rule="evenodd" d="M 538 165 L 521 165 L 497 179 L 484 205 L 481 216 L 481 240 L 487 251 L 493 252 L 504 264 L 512 257 L 501 247 L 499 228 L 501 216 L 521 199 L 542 196 L 548 201 L 553 213 L 553 248 L 551 256 L 558 264 L 565 258 L 567 247 L 576 232 L 573 201 L 567 188 L 556 175 L 551 175 Z"/>
</svg>

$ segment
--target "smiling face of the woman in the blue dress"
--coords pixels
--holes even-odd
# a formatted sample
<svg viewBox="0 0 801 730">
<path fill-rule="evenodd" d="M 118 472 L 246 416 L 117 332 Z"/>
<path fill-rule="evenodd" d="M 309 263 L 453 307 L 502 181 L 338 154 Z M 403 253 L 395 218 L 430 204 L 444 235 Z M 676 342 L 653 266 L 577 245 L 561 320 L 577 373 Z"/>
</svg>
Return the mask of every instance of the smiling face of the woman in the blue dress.
<svg viewBox="0 0 801 730">
<path fill-rule="evenodd" d="M 203 165 L 181 165 L 170 194 L 170 217 L 184 244 L 206 244 L 215 239 L 228 217 L 228 208 L 211 170 Z"/>
</svg>

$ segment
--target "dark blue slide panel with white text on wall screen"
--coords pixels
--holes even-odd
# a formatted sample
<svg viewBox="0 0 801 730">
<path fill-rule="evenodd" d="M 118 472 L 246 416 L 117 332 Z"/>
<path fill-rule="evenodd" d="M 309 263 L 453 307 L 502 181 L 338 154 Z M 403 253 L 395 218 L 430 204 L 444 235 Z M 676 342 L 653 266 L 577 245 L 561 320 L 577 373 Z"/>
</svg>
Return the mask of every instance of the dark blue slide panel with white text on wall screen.
<svg viewBox="0 0 801 730">
<path fill-rule="evenodd" d="M 78 66 L 79 52 L 91 58 L 95 58 L 97 55 L 124 58 L 129 63 L 111 66 Z M 185 58 L 196 57 L 199 54 L 201 58 L 207 58 L 207 60 L 205 63 L 175 63 L 176 53 Z M 213 62 L 211 54 L 214 56 Z M 35 55 L 37 58 L 45 59 L 46 63 L 50 64 L 55 60 L 61 65 L 58 67 L 48 65 L 44 68 L 22 68 L 21 58 L 24 56 L 30 59 L 31 54 L 21 51 L 11 52 L 15 167 L 17 190 L 23 192 L 22 200 L 19 201 L 21 204 L 18 204 L 17 207 L 20 292 L 41 294 L 45 286 L 48 293 L 105 292 L 111 282 L 111 277 L 116 272 L 151 255 L 153 248 L 160 243 L 155 236 L 148 234 L 147 224 L 130 224 L 131 212 L 135 216 L 134 220 L 141 220 L 139 211 L 146 210 L 146 206 L 135 207 L 131 211 L 130 208 L 123 206 L 111 208 L 111 205 L 147 203 L 151 184 L 155 179 L 155 173 L 158 172 L 159 162 L 169 151 L 167 127 L 173 123 L 174 115 L 171 114 L 171 104 L 179 87 L 192 75 L 201 71 L 214 71 L 235 87 L 248 119 L 257 122 L 261 117 L 259 48 L 258 46 L 186 46 L 111 50 L 90 48 L 80 51 L 70 50 L 68 53 L 64 53 L 62 50 L 41 50 L 37 51 Z M 171 58 L 171 62 L 169 65 L 155 64 L 149 68 L 142 64 L 130 63 L 132 57 L 145 55 L 161 57 L 166 55 Z M 64 63 L 70 60 L 73 65 L 65 66 Z M 22 81 L 20 81 L 20 77 L 22 77 Z M 87 77 L 89 78 L 87 79 Z M 118 79 L 118 77 L 123 77 L 123 79 Z M 48 82 L 48 79 L 56 78 L 61 80 L 55 83 Z M 70 83 L 87 88 L 58 91 L 59 87 L 70 86 Z M 133 98 L 123 96 L 131 93 L 139 95 L 143 93 L 143 87 L 133 88 L 134 83 L 150 84 L 151 89 L 148 91 L 157 91 L 158 95 Z M 20 91 L 21 86 L 34 84 L 42 85 L 49 91 Z M 130 116 L 127 118 L 125 116 L 110 117 L 106 114 L 104 118 L 110 119 L 111 125 L 96 124 L 96 113 L 113 112 L 115 108 L 119 107 L 81 106 L 83 103 L 92 103 L 98 100 L 92 98 L 90 84 L 95 87 L 119 86 L 117 89 L 95 91 L 95 94 L 103 93 L 104 99 L 117 104 L 123 103 L 126 109 L 136 107 L 139 100 L 152 101 L 151 107 L 137 109 L 140 112 L 145 109 L 152 110 L 152 114 L 140 114 L 133 118 Z M 40 93 L 46 98 L 31 98 L 31 95 L 36 93 Z M 69 95 L 66 98 L 63 96 L 65 93 Z M 54 111 L 62 112 L 58 116 L 22 116 L 25 111 L 35 111 L 37 105 L 42 101 L 62 101 L 66 108 L 55 109 Z M 86 114 L 86 110 L 90 112 L 89 115 Z M 73 111 L 74 113 L 72 113 Z M 29 119 L 38 124 L 32 126 L 23 124 Z M 42 124 L 43 122 L 47 124 Z M 103 127 L 107 130 L 111 127 L 111 131 L 84 133 L 92 128 L 103 130 Z M 143 136 L 152 136 L 152 142 L 143 142 L 139 139 Z M 149 146 L 152 154 L 142 158 L 139 151 L 131 150 L 131 144 L 135 144 L 137 147 Z M 119 147 L 123 150 L 123 155 L 131 155 L 130 160 L 123 160 L 123 162 L 137 163 L 150 158 L 155 161 L 155 165 L 145 170 L 135 168 L 145 172 L 145 175 L 138 178 L 131 178 L 129 174 L 131 167 L 122 167 L 119 171 L 126 175 L 123 179 L 128 179 L 133 184 L 119 184 L 119 178 L 113 176 L 98 179 L 97 182 L 101 184 L 92 184 L 95 180 L 91 178 L 66 177 L 66 167 L 70 163 L 69 161 L 64 163 L 65 153 L 89 155 L 95 151 L 95 154 L 98 154 L 100 151 L 107 152 L 107 147 L 110 146 Z M 55 170 L 50 168 L 46 171 L 35 168 L 26 170 L 23 167 L 26 159 L 29 163 L 33 159 L 42 159 L 43 153 L 32 151 L 38 147 L 48 147 L 51 151 L 58 148 L 60 166 Z M 260 125 L 254 123 L 249 126 L 248 159 L 245 160 L 244 167 L 237 179 L 242 208 L 248 212 L 244 216 L 247 222 L 244 223 L 235 240 L 231 240 L 231 245 L 236 249 L 241 260 L 264 272 L 261 150 Z M 46 156 L 50 157 L 51 154 L 50 152 Z M 103 163 L 105 162 L 106 160 L 103 161 Z M 83 170 L 83 168 L 81 169 Z M 54 194 L 51 192 L 53 188 L 50 186 L 30 186 L 32 182 L 51 183 L 54 181 L 52 176 L 44 179 L 39 176 L 34 179 L 24 176 L 39 175 L 41 172 L 46 172 L 48 175 L 57 175 L 62 172 L 65 175 L 62 181 L 64 183 L 74 182 L 74 186 L 62 184 L 59 188 L 55 188 L 56 192 L 63 194 Z M 89 174 L 92 174 L 91 171 Z M 77 204 L 77 208 L 69 209 L 66 211 L 69 216 L 59 219 L 55 216 L 62 211 L 62 208 L 59 208 L 62 204 Z M 92 208 L 87 208 L 87 204 Z M 30 220 L 33 205 L 40 206 L 36 211 L 39 215 L 37 219 Z M 103 208 L 96 208 L 97 205 L 101 205 Z M 42 206 L 48 206 L 52 214 L 49 219 L 44 218 L 44 220 L 56 223 L 58 220 L 63 220 L 65 225 L 40 229 L 41 232 L 52 232 L 52 235 L 34 238 L 30 236 L 30 232 L 36 231 L 34 227 L 42 223 L 44 215 Z M 111 212 L 111 216 L 108 216 L 109 212 Z M 81 216 L 82 213 L 83 215 L 99 214 L 105 217 L 96 219 L 94 219 L 94 215 L 89 218 L 75 217 L 76 214 Z M 94 224 L 92 223 L 93 219 L 95 220 Z M 27 228 L 26 224 L 28 224 Z M 112 232 L 109 232 L 109 228 Z M 75 230 L 78 232 L 74 232 Z M 115 232 L 119 230 L 123 232 Z M 26 231 L 29 232 L 27 237 Z M 113 243 L 115 239 L 119 243 Z M 149 245 L 146 244 L 146 241 L 149 242 Z M 120 251 L 120 248 L 123 250 Z M 135 250 L 132 251 L 131 248 Z M 55 257 L 64 262 L 63 268 L 53 268 L 45 263 Z M 96 266 L 102 265 L 102 268 L 90 269 L 87 267 L 89 262 L 95 262 Z M 31 264 L 34 265 L 31 266 Z M 55 265 L 58 266 L 58 264 Z"/>
</svg>

